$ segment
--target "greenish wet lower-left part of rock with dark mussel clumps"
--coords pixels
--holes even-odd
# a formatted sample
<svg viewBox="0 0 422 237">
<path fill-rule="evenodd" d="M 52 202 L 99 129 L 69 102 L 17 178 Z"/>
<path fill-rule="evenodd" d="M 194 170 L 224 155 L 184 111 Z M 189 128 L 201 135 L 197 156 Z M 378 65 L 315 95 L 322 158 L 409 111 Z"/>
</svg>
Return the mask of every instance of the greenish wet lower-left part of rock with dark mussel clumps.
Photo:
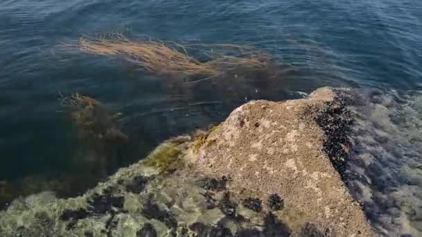
<svg viewBox="0 0 422 237">
<path fill-rule="evenodd" d="M 291 234 L 272 213 L 240 205 L 226 177 L 203 177 L 183 168 L 191 143 L 192 137 L 166 141 L 146 159 L 121 168 L 76 198 L 58 199 L 51 192 L 18 198 L 0 211 L 0 236 Z M 304 226 L 303 231 L 321 233 L 314 225 Z"/>
</svg>

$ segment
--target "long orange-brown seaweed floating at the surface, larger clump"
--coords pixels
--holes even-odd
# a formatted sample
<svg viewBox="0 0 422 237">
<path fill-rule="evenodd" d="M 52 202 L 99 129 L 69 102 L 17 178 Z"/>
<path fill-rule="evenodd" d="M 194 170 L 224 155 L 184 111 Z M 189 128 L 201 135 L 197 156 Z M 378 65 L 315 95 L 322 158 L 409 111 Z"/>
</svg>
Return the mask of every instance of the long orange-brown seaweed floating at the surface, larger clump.
<svg viewBox="0 0 422 237">
<path fill-rule="evenodd" d="M 82 37 L 81 51 L 121 58 L 158 75 L 182 73 L 188 78 L 216 78 L 239 67 L 264 69 L 269 57 L 251 46 L 237 44 L 178 44 L 160 40 L 133 42 L 123 35 Z M 194 52 L 196 58 L 189 55 Z M 197 58 L 206 58 L 199 60 Z"/>
</svg>

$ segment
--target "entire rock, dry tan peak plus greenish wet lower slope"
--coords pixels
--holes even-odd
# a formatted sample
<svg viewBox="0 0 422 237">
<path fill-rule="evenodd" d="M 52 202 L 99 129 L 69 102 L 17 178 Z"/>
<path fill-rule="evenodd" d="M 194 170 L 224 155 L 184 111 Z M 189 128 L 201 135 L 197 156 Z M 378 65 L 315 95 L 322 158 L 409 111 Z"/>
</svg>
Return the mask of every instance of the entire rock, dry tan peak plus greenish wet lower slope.
<svg viewBox="0 0 422 237">
<path fill-rule="evenodd" d="M 0 236 L 373 236 L 342 181 L 351 124 L 334 89 L 252 101 L 84 195 L 18 198 Z"/>
</svg>

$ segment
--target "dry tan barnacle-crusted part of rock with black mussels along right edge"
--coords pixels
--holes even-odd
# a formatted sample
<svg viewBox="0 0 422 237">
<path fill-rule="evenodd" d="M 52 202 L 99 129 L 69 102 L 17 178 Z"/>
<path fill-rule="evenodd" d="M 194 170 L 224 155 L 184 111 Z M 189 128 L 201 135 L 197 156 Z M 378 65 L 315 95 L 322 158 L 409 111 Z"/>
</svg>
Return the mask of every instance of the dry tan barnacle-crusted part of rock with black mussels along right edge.
<svg viewBox="0 0 422 237">
<path fill-rule="evenodd" d="M 352 121 L 336 97 L 323 88 L 303 100 L 246 103 L 205 135 L 191 161 L 208 175 L 230 176 L 240 195 L 279 194 L 278 216 L 291 229 L 313 222 L 339 236 L 373 236 L 341 180 Z"/>
</svg>

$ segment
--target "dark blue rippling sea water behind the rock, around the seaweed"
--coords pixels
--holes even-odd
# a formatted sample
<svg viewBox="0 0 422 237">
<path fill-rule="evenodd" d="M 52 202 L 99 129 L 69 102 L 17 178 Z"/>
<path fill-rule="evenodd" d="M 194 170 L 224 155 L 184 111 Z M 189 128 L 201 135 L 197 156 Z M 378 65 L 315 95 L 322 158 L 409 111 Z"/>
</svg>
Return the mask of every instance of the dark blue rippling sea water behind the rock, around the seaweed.
<svg viewBox="0 0 422 237">
<path fill-rule="evenodd" d="M 119 60 L 60 48 L 83 35 L 115 31 L 131 39 L 248 44 L 289 70 L 186 85 Z M 300 98 L 298 91 L 321 86 L 394 89 L 406 98 L 400 106 L 420 109 L 414 94 L 421 89 L 421 66 L 422 3 L 415 0 L 1 1 L 0 182 L 20 186 L 6 192 L 12 196 L 60 182 L 69 184 L 62 195 L 74 195 L 164 139 L 222 121 L 248 100 Z M 81 139 L 60 112 L 60 94 L 75 91 L 122 113 L 116 126 L 129 142 L 110 145 L 110 157 Z M 419 144 L 414 131 L 405 133 Z M 421 179 L 421 152 L 397 149 L 414 154 L 408 159 L 419 164 Z M 92 184 L 80 182 L 86 177 Z"/>
</svg>

